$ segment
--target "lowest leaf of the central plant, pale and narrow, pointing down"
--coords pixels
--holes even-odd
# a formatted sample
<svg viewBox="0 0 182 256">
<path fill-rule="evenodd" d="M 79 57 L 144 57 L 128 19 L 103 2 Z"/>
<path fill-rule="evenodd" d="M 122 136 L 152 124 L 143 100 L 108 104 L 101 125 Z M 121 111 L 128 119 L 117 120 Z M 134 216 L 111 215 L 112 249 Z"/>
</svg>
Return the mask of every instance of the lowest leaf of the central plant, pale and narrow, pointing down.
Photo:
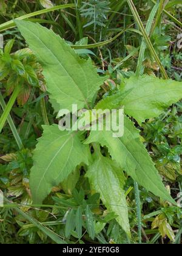
<svg viewBox="0 0 182 256">
<path fill-rule="evenodd" d="M 92 135 L 91 135 L 92 136 Z M 130 236 L 128 208 L 123 190 L 124 174 L 115 162 L 99 155 L 86 173 L 92 188 L 100 194 L 103 204 L 114 212 L 116 220 Z"/>
</svg>

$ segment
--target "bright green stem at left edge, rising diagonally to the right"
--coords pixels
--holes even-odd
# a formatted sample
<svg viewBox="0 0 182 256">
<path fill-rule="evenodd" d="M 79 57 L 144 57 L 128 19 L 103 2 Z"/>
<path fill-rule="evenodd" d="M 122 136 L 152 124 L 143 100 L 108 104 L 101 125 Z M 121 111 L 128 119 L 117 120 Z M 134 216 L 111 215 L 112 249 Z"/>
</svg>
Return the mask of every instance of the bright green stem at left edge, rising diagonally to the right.
<svg viewBox="0 0 182 256">
<path fill-rule="evenodd" d="M 2 116 L 0 118 L 0 133 L 2 131 L 2 128 L 4 127 L 4 124 L 5 124 L 5 121 L 7 120 L 8 118 L 8 115 L 10 114 L 10 111 L 16 101 L 16 98 L 19 94 L 19 91 L 20 91 L 21 87 L 18 85 L 16 86 L 15 90 L 13 91 L 13 94 L 10 98 L 10 100 L 8 101 L 8 104 L 7 106 L 5 107 L 4 109 L 4 112 L 2 113 Z"/>
</svg>

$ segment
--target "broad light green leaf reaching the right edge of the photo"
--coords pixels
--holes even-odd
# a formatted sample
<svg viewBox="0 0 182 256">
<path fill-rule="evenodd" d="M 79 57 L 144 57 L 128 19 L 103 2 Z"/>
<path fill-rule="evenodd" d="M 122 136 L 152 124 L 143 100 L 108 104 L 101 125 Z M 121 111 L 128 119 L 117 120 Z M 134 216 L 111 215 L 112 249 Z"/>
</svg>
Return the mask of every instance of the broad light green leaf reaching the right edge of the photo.
<svg viewBox="0 0 182 256">
<path fill-rule="evenodd" d="M 163 110 L 182 98 L 182 82 L 153 76 L 124 79 L 121 90 L 98 103 L 97 108 L 124 106 L 124 112 L 139 124 L 157 117 Z"/>
</svg>

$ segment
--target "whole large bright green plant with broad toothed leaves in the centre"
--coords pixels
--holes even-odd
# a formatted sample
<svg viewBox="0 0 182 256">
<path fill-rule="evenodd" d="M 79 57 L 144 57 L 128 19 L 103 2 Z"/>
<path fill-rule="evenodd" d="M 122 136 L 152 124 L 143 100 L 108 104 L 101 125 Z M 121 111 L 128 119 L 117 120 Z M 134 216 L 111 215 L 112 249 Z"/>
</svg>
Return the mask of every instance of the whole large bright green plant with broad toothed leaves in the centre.
<svg viewBox="0 0 182 256">
<path fill-rule="evenodd" d="M 60 131 L 56 124 L 43 126 L 30 174 L 34 203 L 41 204 L 52 187 L 64 182 L 77 166 L 83 166 L 93 190 L 100 194 L 107 210 L 117 215 L 116 220 L 130 236 L 124 172 L 146 190 L 175 204 L 130 118 L 141 125 L 160 115 L 182 98 L 182 83 L 154 76 L 132 76 L 123 80 L 116 94 L 94 105 L 99 87 L 107 77 L 98 76 L 91 60 L 81 59 L 52 30 L 26 21 L 16 24 L 42 65 L 55 112 L 62 108 L 72 111 L 72 104 L 77 104 L 79 109 L 88 110 L 124 106 L 125 114 L 124 135 L 120 138 L 113 137 L 112 130 L 88 133 Z M 101 147 L 108 149 L 109 157 L 101 153 Z"/>
</svg>

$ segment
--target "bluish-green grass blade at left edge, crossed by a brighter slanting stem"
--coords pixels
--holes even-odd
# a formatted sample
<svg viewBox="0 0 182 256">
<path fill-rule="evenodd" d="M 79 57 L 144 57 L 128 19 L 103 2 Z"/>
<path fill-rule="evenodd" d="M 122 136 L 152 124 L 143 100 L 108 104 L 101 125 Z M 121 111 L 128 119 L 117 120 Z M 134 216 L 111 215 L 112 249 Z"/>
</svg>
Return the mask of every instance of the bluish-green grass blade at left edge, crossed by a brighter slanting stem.
<svg viewBox="0 0 182 256">
<path fill-rule="evenodd" d="M 1 92 L 0 92 L 0 105 L 2 107 L 2 110 L 4 111 L 6 108 L 6 104 L 5 104 L 4 98 L 2 97 Z M 19 134 L 16 130 L 15 124 L 13 123 L 12 116 L 8 115 L 7 121 L 10 126 L 10 129 L 12 130 L 13 136 L 15 137 L 15 140 L 16 140 L 16 143 L 18 144 L 19 149 L 22 149 L 24 146 L 23 146 L 21 138 L 19 137 Z"/>
</svg>

